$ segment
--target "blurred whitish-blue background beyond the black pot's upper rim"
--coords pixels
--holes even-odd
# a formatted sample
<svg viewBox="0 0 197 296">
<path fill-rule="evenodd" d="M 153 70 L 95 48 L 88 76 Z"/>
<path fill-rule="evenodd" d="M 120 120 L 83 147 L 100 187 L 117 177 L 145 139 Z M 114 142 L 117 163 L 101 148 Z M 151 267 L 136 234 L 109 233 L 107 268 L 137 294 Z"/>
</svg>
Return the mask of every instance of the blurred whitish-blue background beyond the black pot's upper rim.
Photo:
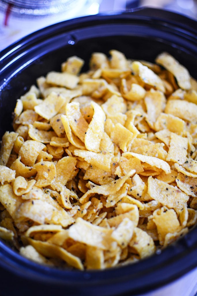
<svg viewBox="0 0 197 296">
<path fill-rule="evenodd" d="M 0 0 L 0 51 L 56 22 L 144 6 L 167 9 L 197 20 L 197 0 Z"/>
</svg>

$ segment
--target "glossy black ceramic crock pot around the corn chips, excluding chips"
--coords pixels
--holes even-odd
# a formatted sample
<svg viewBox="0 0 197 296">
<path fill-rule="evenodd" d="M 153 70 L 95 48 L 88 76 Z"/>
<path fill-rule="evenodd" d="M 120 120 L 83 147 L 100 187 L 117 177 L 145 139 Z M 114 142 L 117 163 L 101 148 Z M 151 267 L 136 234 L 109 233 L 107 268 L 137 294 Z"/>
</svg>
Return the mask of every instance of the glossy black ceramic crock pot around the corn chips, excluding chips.
<svg viewBox="0 0 197 296">
<path fill-rule="evenodd" d="M 61 22 L 23 38 L 0 53 L 0 137 L 12 129 L 16 100 L 50 70 L 77 55 L 117 49 L 131 59 L 172 54 L 197 78 L 196 21 L 158 9 L 96 15 Z M 164 285 L 197 266 L 197 228 L 139 263 L 105 271 L 68 271 L 22 258 L 0 241 L 1 295 L 136 295 Z M 10 284 L 10 279 L 12 284 Z M 6 284 L 8 283 L 8 284 Z"/>
</svg>

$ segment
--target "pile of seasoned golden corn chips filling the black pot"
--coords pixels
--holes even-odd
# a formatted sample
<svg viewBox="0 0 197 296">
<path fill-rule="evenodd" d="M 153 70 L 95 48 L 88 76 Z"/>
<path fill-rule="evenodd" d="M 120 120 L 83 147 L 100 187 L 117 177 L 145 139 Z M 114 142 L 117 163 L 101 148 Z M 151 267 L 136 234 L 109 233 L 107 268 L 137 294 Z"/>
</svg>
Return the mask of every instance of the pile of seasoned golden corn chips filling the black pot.
<svg viewBox="0 0 197 296">
<path fill-rule="evenodd" d="M 197 82 L 95 52 L 37 80 L 0 151 L 0 237 L 38 263 L 105 269 L 174 242 L 197 220 Z"/>
</svg>

